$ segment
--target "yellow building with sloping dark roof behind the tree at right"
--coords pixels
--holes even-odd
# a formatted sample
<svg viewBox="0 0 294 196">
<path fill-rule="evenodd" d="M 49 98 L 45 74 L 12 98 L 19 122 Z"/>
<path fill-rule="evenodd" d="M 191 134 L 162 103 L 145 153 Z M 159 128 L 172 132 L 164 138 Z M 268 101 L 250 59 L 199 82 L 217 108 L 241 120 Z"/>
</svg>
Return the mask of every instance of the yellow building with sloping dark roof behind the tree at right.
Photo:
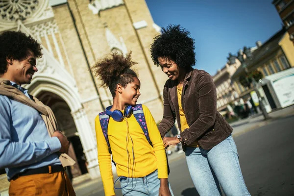
<svg viewBox="0 0 294 196">
<path fill-rule="evenodd" d="M 290 40 L 290 35 L 286 28 L 281 29 L 274 34 L 263 45 L 259 45 L 257 49 L 252 52 L 252 59 L 246 61 L 248 72 L 255 70 L 260 71 L 263 77 L 287 70 L 294 67 L 294 45 Z M 253 99 L 253 102 L 258 106 L 258 99 L 253 88 L 244 87 L 241 85 L 239 79 L 242 74 L 245 74 L 244 67 L 240 66 L 232 76 L 233 84 L 240 98 Z M 264 103 L 268 111 L 270 105 L 265 98 L 263 91 L 260 91 Z"/>
</svg>

